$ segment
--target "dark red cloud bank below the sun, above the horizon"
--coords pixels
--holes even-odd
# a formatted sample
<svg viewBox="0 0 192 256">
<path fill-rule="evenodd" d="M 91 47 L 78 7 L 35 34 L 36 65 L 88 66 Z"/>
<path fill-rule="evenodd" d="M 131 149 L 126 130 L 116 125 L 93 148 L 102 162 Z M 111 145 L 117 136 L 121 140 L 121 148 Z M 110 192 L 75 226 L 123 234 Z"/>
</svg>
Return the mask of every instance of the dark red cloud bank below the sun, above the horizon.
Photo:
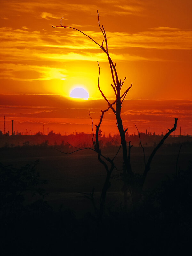
<svg viewBox="0 0 192 256">
<path fill-rule="evenodd" d="M 37 104 L 39 106 L 36 106 Z M 74 103 L 60 95 L 0 95 L 0 113 L 2 116 L 5 114 L 7 120 L 14 119 L 15 124 L 18 122 L 87 124 L 91 129 L 89 111 L 94 124 L 97 124 L 100 109 L 105 107 L 105 100 Z M 161 133 L 171 128 L 174 118 L 177 117 L 178 127 L 182 126 L 182 130 L 189 134 L 192 132 L 191 100 L 124 100 L 123 109 L 122 119 L 125 127 L 134 127 L 136 123 L 139 124 L 137 127 L 141 132 L 150 127 L 151 131 L 154 129 L 157 133 Z M 3 118 L 0 123 L 3 124 Z M 108 125 L 113 125 L 114 128 L 116 126 L 111 111 L 105 113 L 102 129 L 106 131 Z"/>
</svg>

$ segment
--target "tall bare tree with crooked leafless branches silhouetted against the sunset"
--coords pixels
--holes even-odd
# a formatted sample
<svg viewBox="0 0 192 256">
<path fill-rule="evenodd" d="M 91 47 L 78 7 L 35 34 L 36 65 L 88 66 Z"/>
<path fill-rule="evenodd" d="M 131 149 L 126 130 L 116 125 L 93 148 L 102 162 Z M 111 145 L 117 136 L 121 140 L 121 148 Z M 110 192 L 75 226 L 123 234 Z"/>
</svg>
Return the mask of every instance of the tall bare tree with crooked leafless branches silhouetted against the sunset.
<svg viewBox="0 0 192 256">
<path fill-rule="evenodd" d="M 121 137 L 121 145 L 122 145 L 122 153 L 123 153 L 123 167 L 124 167 L 124 174 L 126 176 L 126 179 L 124 181 L 124 183 L 126 183 L 126 186 L 129 187 L 129 191 L 131 191 L 130 193 L 132 194 L 132 198 L 133 198 L 133 202 L 134 201 L 138 201 L 143 189 L 143 185 L 147 176 L 148 171 L 150 170 L 150 164 L 151 161 L 153 159 L 153 156 L 155 155 L 156 151 L 158 150 L 158 148 L 160 148 L 160 146 L 163 144 L 164 140 L 171 134 L 171 132 L 173 132 L 176 129 L 177 126 L 177 118 L 175 118 L 175 124 L 174 127 L 169 130 L 169 132 L 163 137 L 163 139 L 160 141 L 160 143 L 156 146 L 156 148 L 153 150 L 151 156 L 148 159 L 147 164 L 145 164 L 145 168 L 144 168 L 144 172 L 143 175 L 141 177 L 138 178 L 138 175 L 136 175 L 134 172 L 132 172 L 131 169 L 131 165 L 130 165 L 130 153 L 131 153 L 131 144 L 129 141 L 128 144 L 128 150 L 127 150 L 127 142 L 125 139 L 125 133 L 127 131 L 127 129 L 124 130 L 123 127 L 123 123 L 122 123 L 122 118 L 121 118 L 121 107 L 122 107 L 122 103 L 127 95 L 127 93 L 129 92 L 129 90 L 132 87 L 132 83 L 130 86 L 127 87 L 127 89 L 122 92 L 122 86 L 125 82 L 125 80 L 127 79 L 126 77 L 122 80 L 119 79 L 118 74 L 117 74 L 117 70 L 116 70 L 116 63 L 114 63 L 110 57 L 110 54 L 108 52 L 108 42 L 107 42 L 107 36 L 106 36 L 106 32 L 105 29 L 103 27 L 103 25 L 100 25 L 100 20 L 99 20 L 99 10 L 97 10 L 97 16 L 98 16 L 98 25 L 99 28 L 103 34 L 103 41 L 102 44 L 99 44 L 98 42 L 96 42 L 91 36 L 85 34 L 83 31 L 77 29 L 77 28 L 73 28 L 73 27 L 69 27 L 69 26 L 63 26 L 62 24 L 62 19 L 60 20 L 60 26 L 52 26 L 53 28 L 67 28 L 67 29 L 74 29 L 80 33 L 82 33 L 84 36 L 88 37 L 90 40 L 92 40 L 95 44 L 98 45 L 98 47 L 107 55 L 108 57 L 108 63 L 109 63 L 109 67 L 110 67 L 110 72 L 111 72 L 111 77 L 112 77 L 112 81 L 113 84 L 111 84 L 113 91 L 114 91 L 114 96 L 115 96 L 115 100 L 113 101 L 113 103 L 110 103 L 109 100 L 107 99 L 107 97 L 104 95 L 104 93 L 102 92 L 101 88 L 100 88 L 100 84 L 99 84 L 99 76 L 100 76 L 100 66 L 98 63 L 98 67 L 99 67 L 99 76 L 98 76 L 98 89 L 102 95 L 102 97 L 105 99 L 105 101 L 108 104 L 108 108 L 104 111 L 101 110 L 102 114 L 100 117 L 100 122 L 99 124 L 96 126 L 96 132 L 95 132 L 95 141 L 93 141 L 93 145 L 94 145 L 94 151 L 98 153 L 98 160 L 105 166 L 105 169 L 107 171 L 107 177 L 106 177 L 106 181 L 103 187 L 103 191 L 102 191 L 102 195 L 101 195 L 101 205 L 103 207 L 104 205 L 104 201 L 105 201 L 105 196 L 106 196 L 106 192 L 107 192 L 107 188 L 108 188 L 108 184 L 109 184 L 109 179 L 112 173 L 112 170 L 114 169 L 114 163 L 113 160 L 114 159 L 109 159 L 108 157 L 104 157 L 101 154 L 100 151 L 100 147 L 99 147 L 99 140 L 98 140 L 98 131 L 99 131 L 99 127 L 101 125 L 102 119 L 103 119 L 103 115 L 106 111 L 108 111 L 109 109 L 111 109 L 116 117 L 116 125 L 117 128 L 119 130 L 119 134 Z M 105 46 L 104 46 L 105 45 Z M 137 127 L 136 127 L 137 128 Z M 139 131 L 138 131 L 139 133 Z M 93 132 L 94 134 L 94 132 Z M 141 143 L 141 141 L 140 141 Z M 80 150 L 80 149 L 79 149 Z M 128 152 L 127 152 L 128 151 Z M 145 156 L 145 155 L 144 155 Z M 103 159 L 107 162 L 109 162 L 111 164 L 111 168 L 108 169 L 107 164 L 105 161 L 103 161 Z M 126 189 L 125 189 L 126 190 Z M 101 207 L 101 208 L 102 208 Z"/>
</svg>

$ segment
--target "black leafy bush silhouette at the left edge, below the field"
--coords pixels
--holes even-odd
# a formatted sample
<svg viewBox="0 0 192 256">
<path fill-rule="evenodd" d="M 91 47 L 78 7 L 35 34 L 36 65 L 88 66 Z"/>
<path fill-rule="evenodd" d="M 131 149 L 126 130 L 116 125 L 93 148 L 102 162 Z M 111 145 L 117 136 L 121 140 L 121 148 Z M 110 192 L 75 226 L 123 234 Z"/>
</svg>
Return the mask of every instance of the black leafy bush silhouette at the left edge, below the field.
<svg viewBox="0 0 192 256">
<path fill-rule="evenodd" d="M 14 218 L 25 212 L 28 208 L 28 197 L 41 197 L 40 201 L 32 204 L 35 208 L 43 203 L 42 199 L 46 194 L 39 185 L 46 184 L 47 181 L 39 178 L 37 164 L 38 160 L 17 169 L 0 163 L 0 218 Z"/>
</svg>

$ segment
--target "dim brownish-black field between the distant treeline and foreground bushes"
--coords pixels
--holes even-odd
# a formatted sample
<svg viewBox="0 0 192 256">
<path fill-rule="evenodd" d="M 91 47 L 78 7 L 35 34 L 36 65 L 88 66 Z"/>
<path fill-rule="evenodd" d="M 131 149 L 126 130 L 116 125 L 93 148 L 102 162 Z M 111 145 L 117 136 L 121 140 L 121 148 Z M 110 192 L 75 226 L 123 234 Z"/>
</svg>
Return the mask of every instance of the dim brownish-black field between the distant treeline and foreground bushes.
<svg viewBox="0 0 192 256">
<path fill-rule="evenodd" d="M 167 175 L 172 177 L 176 171 L 176 160 L 180 145 L 162 146 L 157 151 L 151 164 L 145 183 L 145 189 L 151 190 L 161 185 L 162 180 L 167 179 Z M 55 209 L 59 209 L 63 204 L 64 208 L 69 208 L 76 215 L 82 215 L 87 211 L 92 211 L 91 202 L 81 193 L 90 193 L 95 188 L 95 199 L 99 202 L 100 191 L 102 189 L 106 171 L 97 160 L 97 154 L 91 150 L 76 152 L 66 155 L 58 152 L 56 147 L 23 146 L 16 148 L 1 148 L 0 162 L 4 165 L 12 165 L 20 168 L 35 160 L 39 160 L 37 171 L 40 177 L 48 181 L 42 187 L 48 193 L 45 200 Z M 153 148 L 146 148 L 146 160 Z M 113 157 L 115 149 L 105 149 L 105 156 Z M 122 173 L 121 151 L 116 156 L 115 164 L 119 171 L 112 173 L 111 186 L 108 189 L 106 199 L 107 206 L 116 207 L 123 202 L 121 177 L 114 177 L 115 174 Z M 185 170 L 192 159 L 192 147 L 183 145 L 180 151 L 178 168 Z M 136 173 L 142 174 L 144 169 L 143 151 L 140 147 L 133 147 L 131 152 L 131 166 Z"/>
</svg>

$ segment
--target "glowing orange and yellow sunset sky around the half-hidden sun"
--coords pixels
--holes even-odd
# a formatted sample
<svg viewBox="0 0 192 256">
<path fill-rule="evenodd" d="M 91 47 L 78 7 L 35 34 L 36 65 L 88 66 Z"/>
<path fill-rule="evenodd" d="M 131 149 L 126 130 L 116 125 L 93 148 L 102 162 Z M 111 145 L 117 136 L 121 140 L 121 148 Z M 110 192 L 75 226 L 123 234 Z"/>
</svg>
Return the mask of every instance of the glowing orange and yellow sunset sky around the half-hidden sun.
<svg viewBox="0 0 192 256">
<path fill-rule="evenodd" d="M 99 44 L 97 9 L 109 53 L 122 90 L 131 83 L 122 107 L 124 129 L 161 134 L 178 118 L 176 134 L 192 134 L 192 2 L 191 0 L 1 1 L 0 130 L 6 132 L 91 132 L 100 110 L 108 107 L 100 87 L 114 99 L 109 64 L 102 50 L 77 31 L 53 28 L 62 24 L 82 30 Z M 88 100 L 70 92 L 82 87 Z M 117 133 L 108 111 L 101 129 Z"/>
</svg>

